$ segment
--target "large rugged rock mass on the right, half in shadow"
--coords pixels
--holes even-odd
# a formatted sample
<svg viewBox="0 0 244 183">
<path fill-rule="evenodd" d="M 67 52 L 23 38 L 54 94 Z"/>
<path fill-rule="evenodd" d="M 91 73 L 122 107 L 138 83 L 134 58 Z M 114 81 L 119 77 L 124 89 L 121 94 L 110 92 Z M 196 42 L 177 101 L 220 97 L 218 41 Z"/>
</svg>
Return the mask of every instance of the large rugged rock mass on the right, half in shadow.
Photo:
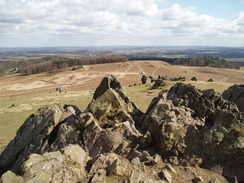
<svg viewBox="0 0 244 183">
<path fill-rule="evenodd" d="M 199 165 L 244 180 L 243 117 L 214 90 L 177 83 L 153 99 L 139 126 L 172 164 Z"/>
</svg>

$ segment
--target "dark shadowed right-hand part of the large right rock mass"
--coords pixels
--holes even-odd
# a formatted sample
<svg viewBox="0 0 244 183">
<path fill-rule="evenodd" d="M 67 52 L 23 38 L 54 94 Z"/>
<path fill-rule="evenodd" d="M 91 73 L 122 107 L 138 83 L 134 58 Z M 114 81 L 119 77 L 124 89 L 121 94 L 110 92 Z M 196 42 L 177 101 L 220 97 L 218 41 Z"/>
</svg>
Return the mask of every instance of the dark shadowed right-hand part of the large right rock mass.
<svg viewBox="0 0 244 183">
<path fill-rule="evenodd" d="M 194 117 L 204 120 L 201 130 L 204 133 L 202 166 L 212 169 L 221 166 L 224 176 L 236 176 L 239 181 L 244 181 L 241 173 L 244 170 L 244 115 L 237 106 L 224 100 L 214 90 L 201 91 L 182 83 L 173 86 L 167 98 L 183 100 L 181 105 L 191 108 Z"/>
</svg>

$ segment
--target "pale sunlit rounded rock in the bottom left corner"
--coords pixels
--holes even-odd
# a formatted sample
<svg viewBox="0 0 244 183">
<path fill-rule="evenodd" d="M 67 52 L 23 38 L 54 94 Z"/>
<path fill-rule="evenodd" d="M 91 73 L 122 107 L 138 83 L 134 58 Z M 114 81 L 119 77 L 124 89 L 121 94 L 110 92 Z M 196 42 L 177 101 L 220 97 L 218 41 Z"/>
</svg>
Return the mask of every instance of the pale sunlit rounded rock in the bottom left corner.
<svg viewBox="0 0 244 183">
<path fill-rule="evenodd" d="M 63 149 L 64 154 L 60 151 L 44 153 L 43 155 L 32 154 L 23 164 L 23 177 L 16 176 L 8 171 L 3 174 L 3 183 L 6 180 L 12 182 L 78 182 L 85 174 L 86 155 L 84 150 L 78 145 L 70 145 Z M 73 151 L 74 153 L 70 154 Z M 84 157 L 81 157 L 81 155 Z M 81 163 L 81 164 L 80 164 Z M 7 179 L 6 179 L 7 178 Z"/>
</svg>

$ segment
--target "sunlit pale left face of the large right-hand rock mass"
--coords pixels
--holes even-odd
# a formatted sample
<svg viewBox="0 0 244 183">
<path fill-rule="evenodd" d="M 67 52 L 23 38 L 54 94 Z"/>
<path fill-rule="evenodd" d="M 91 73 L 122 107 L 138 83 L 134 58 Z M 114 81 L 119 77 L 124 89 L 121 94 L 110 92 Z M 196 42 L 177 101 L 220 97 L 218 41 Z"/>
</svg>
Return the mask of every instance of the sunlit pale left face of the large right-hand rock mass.
<svg viewBox="0 0 244 183">
<path fill-rule="evenodd" d="M 194 119 L 190 109 L 175 107 L 164 95 L 153 99 L 139 125 L 152 134 L 153 144 L 163 157 L 167 154 L 168 158 L 177 156 L 184 163 L 200 164 L 203 122 Z"/>
</svg>

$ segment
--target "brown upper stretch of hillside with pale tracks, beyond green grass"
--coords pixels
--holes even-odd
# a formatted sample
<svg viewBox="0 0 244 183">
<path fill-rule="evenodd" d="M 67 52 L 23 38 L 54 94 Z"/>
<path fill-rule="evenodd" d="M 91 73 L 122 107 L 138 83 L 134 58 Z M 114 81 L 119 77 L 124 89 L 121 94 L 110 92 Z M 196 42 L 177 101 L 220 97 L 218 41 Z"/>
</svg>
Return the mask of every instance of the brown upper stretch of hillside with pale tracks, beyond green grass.
<svg viewBox="0 0 244 183">
<path fill-rule="evenodd" d="M 41 73 L 30 76 L 13 75 L 0 78 L 0 97 L 32 95 L 55 92 L 58 86 L 66 87 L 68 91 L 93 90 L 101 79 L 113 74 L 123 86 L 139 84 L 142 74 L 157 77 L 185 76 L 190 80 L 196 76 L 199 81 L 212 78 L 215 82 L 244 83 L 244 69 L 218 69 L 210 67 L 171 66 L 159 61 L 130 61 L 125 63 L 86 65 L 72 71 L 65 70 L 56 73 Z"/>
</svg>

